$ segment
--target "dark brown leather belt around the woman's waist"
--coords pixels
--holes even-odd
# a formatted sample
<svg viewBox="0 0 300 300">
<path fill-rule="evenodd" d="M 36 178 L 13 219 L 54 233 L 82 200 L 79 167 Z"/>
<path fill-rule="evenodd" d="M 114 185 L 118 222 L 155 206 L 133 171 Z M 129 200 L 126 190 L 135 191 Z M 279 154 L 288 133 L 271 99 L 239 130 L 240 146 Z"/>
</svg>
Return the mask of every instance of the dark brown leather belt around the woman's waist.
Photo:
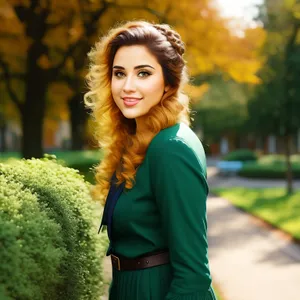
<svg viewBox="0 0 300 300">
<path fill-rule="evenodd" d="M 111 254 L 112 266 L 119 271 L 141 270 L 170 262 L 169 251 L 161 251 L 159 253 L 143 255 L 135 258 L 127 258 Z"/>
</svg>

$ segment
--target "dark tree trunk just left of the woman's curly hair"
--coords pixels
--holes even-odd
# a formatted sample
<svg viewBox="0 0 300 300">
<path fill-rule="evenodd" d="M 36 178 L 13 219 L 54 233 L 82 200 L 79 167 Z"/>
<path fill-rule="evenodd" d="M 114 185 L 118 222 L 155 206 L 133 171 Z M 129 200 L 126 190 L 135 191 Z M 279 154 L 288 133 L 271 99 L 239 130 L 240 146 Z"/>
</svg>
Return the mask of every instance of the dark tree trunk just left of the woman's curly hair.
<svg viewBox="0 0 300 300">
<path fill-rule="evenodd" d="M 72 132 L 72 150 L 82 150 L 85 143 L 85 125 L 88 114 L 84 107 L 82 94 L 74 95 L 69 101 Z"/>
</svg>

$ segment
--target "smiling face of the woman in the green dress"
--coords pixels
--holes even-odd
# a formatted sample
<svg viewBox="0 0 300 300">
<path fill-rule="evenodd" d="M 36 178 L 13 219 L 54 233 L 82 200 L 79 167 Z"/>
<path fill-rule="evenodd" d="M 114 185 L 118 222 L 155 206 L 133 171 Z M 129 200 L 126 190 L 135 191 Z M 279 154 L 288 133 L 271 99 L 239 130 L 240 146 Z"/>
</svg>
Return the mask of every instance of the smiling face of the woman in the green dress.
<svg viewBox="0 0 300 300">
<path fill-rule="evenodd" d="M 111 91 L 126 118 L 146 115 L 167 89 L 161 65 L 145 46 L 118 49 L 113 61 Z"/>
</svg>

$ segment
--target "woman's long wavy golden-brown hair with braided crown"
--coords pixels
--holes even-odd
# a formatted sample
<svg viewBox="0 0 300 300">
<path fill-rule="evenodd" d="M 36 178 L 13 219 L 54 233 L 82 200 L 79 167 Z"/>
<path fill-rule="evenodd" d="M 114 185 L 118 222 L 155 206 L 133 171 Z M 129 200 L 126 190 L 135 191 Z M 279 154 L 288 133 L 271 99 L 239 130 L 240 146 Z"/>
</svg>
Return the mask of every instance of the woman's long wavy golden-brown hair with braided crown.
<svg viewBox="0 0 300 300">
<path fill-rule="evenodd" d="M 135 120 L 123 116 L 111 93 L 115 54 L 120 47 L 130 45 L 147 47 L 161 65 L 165 84 L 170 87 L 145 118 L 151 136 L 136 132 Z M 89 91 L 84 95 L 84 101 L 92 110 L 95 139 L 104 151 L 101 163 L 95 168 L 94 199 L 105 202 L 114 172 L 116 184 L 125 181 L 125 188 L 131 189 L 137 168 L 153 137 L 179 122 L 190 125 L 189 99 L 182 92 L 188 82 L 184 51 L 180 35 L 169 25 L 130 21 L 111 29 L 88 53 L 90 65 L 86 80 Z"/>
</svg>

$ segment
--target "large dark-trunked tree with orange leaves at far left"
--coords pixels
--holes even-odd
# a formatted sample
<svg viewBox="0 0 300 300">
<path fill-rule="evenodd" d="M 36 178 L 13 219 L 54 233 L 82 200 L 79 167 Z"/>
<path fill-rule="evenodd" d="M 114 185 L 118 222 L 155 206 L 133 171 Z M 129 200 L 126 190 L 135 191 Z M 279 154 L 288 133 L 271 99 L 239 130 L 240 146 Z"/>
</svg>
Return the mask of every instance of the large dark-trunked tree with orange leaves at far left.
<svg viewBox="0 0 300 300">
<path fill-rule="evenodd" d="M 76 11 L 73 6 L 51 1 L 2 1 L 1 6 L 5 14 L 1 16 L 0 63 L 7 91 L 21 115 L 22 153 L 25 158 L 41 157 L 48 85 L 76 46 L 76 42 L 66 45 L 61 54 L 50 46 L 49 38 L 62 23 L 72 22 Z M 22 90 L 21 95 L 17 89 Z"/>
</svg>

